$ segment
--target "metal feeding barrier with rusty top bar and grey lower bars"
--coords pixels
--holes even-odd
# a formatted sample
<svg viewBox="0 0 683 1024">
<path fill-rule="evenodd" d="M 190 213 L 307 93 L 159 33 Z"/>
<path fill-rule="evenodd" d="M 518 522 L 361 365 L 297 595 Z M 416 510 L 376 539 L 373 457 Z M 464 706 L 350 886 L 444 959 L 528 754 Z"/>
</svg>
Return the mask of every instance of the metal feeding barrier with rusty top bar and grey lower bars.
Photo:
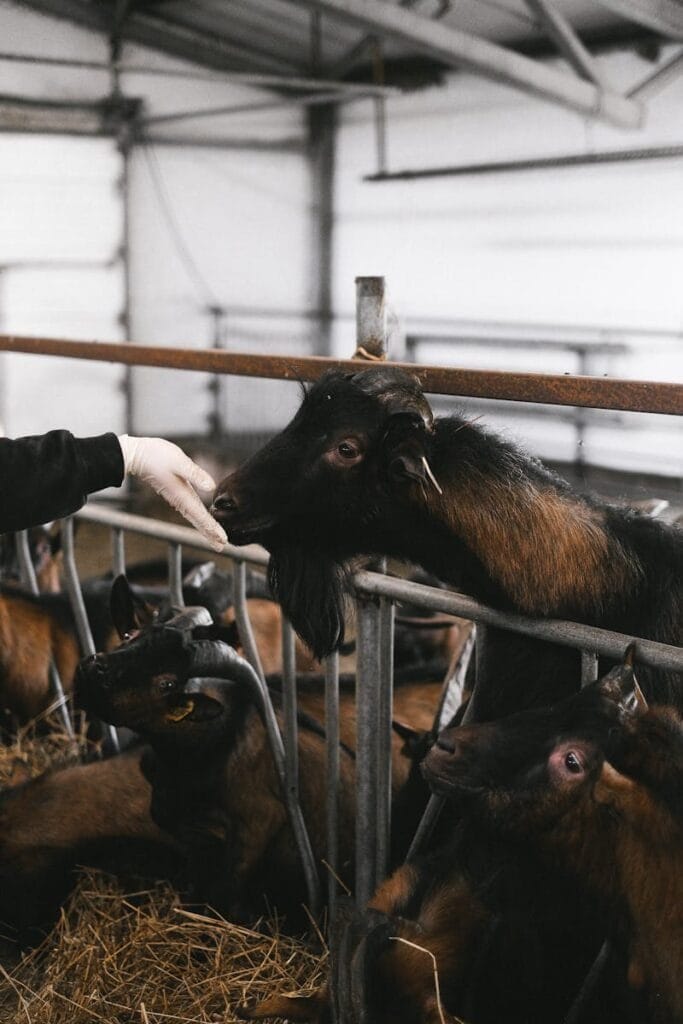
<svg viewBox="0 0 683 1024">
<path fill-rule="evenodd" d="M 361 293 L 362 279 L 358 290 L 358 294 Z M 357 352 L 365 349 L 365 351 L 375 354 L 378 348 L 377 335 L 381 335 L 383 331 L 383 290 L 375 289 L 375 294 L 380 303 L 375 313 L 368 315 L 366 308 L 366 315 L 358 317 Z M 359 309 L 360 305 L 359 302 Z M 364 332 L 371 332 L 371 334 L 368 335 Z M 380 347 L 381 340 L 380 337 Z M 355 371 L 359 365 L 357 359 L 340 360 L 312 356 L 285 358 L 212 350 L 169 350 L 126 344 L 100 344 L 8 336 L 0 337 L 0 350 L 3 349 L 118 361 L 129 366 L 156 366 L 278 379 L 315 380 L 331 367 Z M 683 385 L 678 384 L 590 377 L 571 378 L 552 374 L 444 369 L 413 364 L 402 366 L 420 379 L 425 391 L 429 393 L 683 415 Z M 116 573 L 125 568 L 124 534 L 126 531 L 165 541 L 169 545 L 169 589 L 177 604 L 182 602 L 180 578 L 182 547 L 191 547 L 214 555 L 208 542 L 189 527 L 130 515 L 96 504 L 81 510 L 77 515 L 89 522 L 105 525 L 112 530 L 112 560 Z M 69 521 L 66 525 L 66 536 L 71 538 Z M 24 542 L 20 543 L 24 544 Z M 67 558 L 68 586 L 75 616 L 77 622 L 80 622 L 81 644 L 84 652 L 88 653 L 91 647 L 91 637 L 89 638 L 89 633 L 85 628 L 85 608 L 82 597 L 79 600 L 80 585 L 75 563 L 71 557 L 73 554 L 71 543 L 68 541 L 70 552 Z M 234 612 L 245 656 L 259 679 L 263 680 L 263 672 L 247 606 L 246 565 L 251 564 L 263 568 L 267 564 L 268 556 L 258 546 L 236 548 L 226 545 L 223 554 L 233 559 L 234 563 Z M 358 906 L 362 906 L 372 895 L 377 882 L 386 871 L 388 861 L 391 827 L 392 616 L 395 602 L 410 600 L 412 604 L 425 609 L 459 615 L 484 626 L 503 627 L 524 636 L 549 640 L 575 648 L 582 652 L 583 683 L 596 678 L 598 655 L 617 659 L 633 639 L 638 640 L 637 657 L 639 662 L 653 668 L 683 673 L 683 648 L 640 640 L 578 623 L 536 620 L 507 613 L 463 594 L 425 587 L 377 572 L 356 572 L 352 578 L 352 585 L 357 614 L 354 895 Z M 269 736 L 276 763 L 280 763 L 278 759 L 282 758 L 284 799 L 302 857 L 308 898 L 311 906 L 316 907 L 318 901 L 317 871 L 310 852 L 310 844 L 299 802 L 294 638 L 292 628 L 288 623 L 284 623 L 283 629 L 282 751 L 278 738 L 281 735 L 280 731 L 276 730 L 276 735 L 271 731 Z M 336 656 L 328 658 L 325 664 L 325 690 L 328 773 L 327 862 L 330 865 L 328 906 L 330 920 L 334 922 L 338 899 L 338 805 L 340 795 L 339 666 Z M 267 692 L 265 699 L 269 705 Z M 274 721 L 274 713 L 271 721 Z M 412 847 L 413 852 L 428 835 L 436 810 L 437 801 L 433 798 L 418 829 Z"/>
</svg>

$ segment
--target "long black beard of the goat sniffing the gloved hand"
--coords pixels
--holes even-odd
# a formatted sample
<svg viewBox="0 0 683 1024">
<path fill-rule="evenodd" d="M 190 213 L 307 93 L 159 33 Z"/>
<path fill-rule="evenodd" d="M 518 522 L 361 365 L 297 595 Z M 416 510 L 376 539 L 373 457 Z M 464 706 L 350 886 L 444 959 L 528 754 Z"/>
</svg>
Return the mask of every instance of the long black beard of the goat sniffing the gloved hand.
<svg viewBox="0 0 683 1024">
<path fill-rule="evenodd" d="M 318 659 L 344 642 L 347 577 L 348 570 L 323 551 L 288 545 L 271 553 L 273 597 Z"/>
</svg>

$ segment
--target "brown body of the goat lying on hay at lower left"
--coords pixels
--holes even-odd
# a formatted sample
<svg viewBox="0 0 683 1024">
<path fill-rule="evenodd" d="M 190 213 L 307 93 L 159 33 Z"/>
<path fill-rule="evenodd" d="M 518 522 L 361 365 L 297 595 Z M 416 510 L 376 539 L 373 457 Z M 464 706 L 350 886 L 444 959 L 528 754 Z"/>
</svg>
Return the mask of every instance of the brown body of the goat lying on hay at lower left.
<svg viewBox="0 0 683 1024">
<path fill-rule="evenodd" d="M 152 854 L 177 868 L 176 844 L 152 820 L 141 749 L 49 771 L 0 794 L 0 921 L 22 945 L 38 940 L 69 892 L 77 864 L 122 866 Z"/>
</svg>

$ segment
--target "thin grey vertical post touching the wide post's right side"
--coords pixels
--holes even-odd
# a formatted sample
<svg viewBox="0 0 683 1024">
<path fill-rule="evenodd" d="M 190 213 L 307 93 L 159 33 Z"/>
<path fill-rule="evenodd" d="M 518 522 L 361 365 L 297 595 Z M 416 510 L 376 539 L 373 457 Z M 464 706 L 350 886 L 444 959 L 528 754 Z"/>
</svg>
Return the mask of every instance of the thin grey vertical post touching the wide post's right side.
<svg viewBox="0 0 683 1024">
<path fill-rule="evenodd" d="M 394 607 L 380 600 L 380 664 L 378 692 L 377 766 L 377 881 L 389 867 L 391 843 L 391 719 L 393 717 Z"/>
</svg>

